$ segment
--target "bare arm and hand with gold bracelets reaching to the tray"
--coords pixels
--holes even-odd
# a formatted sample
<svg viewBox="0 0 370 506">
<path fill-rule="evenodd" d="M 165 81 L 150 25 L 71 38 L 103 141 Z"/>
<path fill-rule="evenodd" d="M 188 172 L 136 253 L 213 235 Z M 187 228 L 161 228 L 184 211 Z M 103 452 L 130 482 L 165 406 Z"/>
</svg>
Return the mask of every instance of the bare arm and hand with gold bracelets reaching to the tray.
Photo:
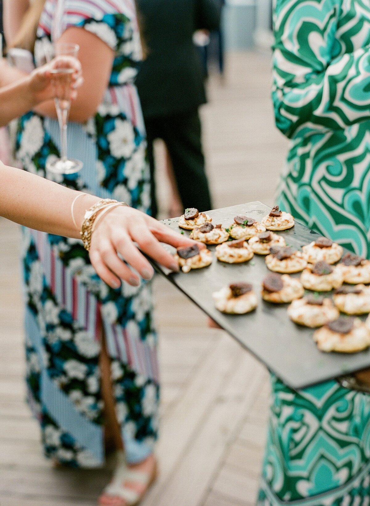
<svg viewBox="0 0 370 506">
<path fill-rule="evenodd" d="M 43 232 L 80 237 L 71 215 L 72 202 L 79 192 L 1 162 L 0 181 L 0 216 Z M 99 200 L 93 195 L 84 195 L 76 200 L 74 217 L 78 227 L 86 209 Z M 172 255 L 160 242 L 175 247 L 194 244 L 194 241 L 136 209 L 116 207 L 102 217 L 92 234 L 90 260 L 101 279 L 113 288 L 120 286 L 120 279 L 136 285 L 139 283 L 138 276 L 118 255 L 144 279 L 150 279 L 154 272 L 136 244 L 161 265 L 178 270 Z"/>
</svg>

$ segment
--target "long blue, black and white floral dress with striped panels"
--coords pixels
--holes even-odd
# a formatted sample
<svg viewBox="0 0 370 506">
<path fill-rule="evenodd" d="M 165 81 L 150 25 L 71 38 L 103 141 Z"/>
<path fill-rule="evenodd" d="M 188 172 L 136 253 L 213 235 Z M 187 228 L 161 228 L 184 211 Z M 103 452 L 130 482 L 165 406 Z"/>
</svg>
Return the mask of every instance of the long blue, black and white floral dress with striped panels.
<svg viewBox="0 0 370 506">
<path fill-rule="evenodd" d="M 82 159 L 83 170 L 57 182 L 148 212 L 145 129 L 132 84 L 141 57 L 134 0 L 46 0 L 36 63 L 57 17 L 62 31 L 88 30 L 115 52 L 97 113 L 84 125 L 69 125 L 68 154 Z M 59 156 L 58 146 L 56 121 L 33 112 L 20 119 L 15 152 L 24 170 L 46 177 L 46 161 Z M 114 290 L 98 278 L 79 240 L 29 229 L 23 231 L 22 259 L 27 396 L 40 422 L 45 455 L 73 467 L 104 462 L 98 366 L 103 331 L 126 456 L 130 462 L 145 458 L 157 435 L 158 407 L 150 285 L 123 283 Z"/>
</svg>

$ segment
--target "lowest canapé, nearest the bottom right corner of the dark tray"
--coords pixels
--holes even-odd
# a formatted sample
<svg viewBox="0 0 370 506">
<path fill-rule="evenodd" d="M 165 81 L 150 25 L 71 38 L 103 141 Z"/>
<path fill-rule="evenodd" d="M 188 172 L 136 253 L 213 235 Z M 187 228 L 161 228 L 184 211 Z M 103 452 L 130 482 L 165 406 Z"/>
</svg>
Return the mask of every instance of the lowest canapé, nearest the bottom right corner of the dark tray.
<svg viewBox="0 0 370 506">
<path fill-rule="evenodd" d="M 355 353 L 370 346 L 370 332 L 359 318 L 340 316 L 315 330 L 313 340 L 321 351 Z"/>
</svg>

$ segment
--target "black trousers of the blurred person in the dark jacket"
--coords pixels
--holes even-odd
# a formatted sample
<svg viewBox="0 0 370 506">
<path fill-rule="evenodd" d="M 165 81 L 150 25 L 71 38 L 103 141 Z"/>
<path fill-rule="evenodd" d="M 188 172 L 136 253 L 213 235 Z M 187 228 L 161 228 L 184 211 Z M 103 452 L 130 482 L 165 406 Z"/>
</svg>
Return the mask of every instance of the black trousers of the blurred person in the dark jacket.
<svg viewBox="0 0 370 506">
<path fill-rule="evenodd" d="M 146 118 L 145 127 L 151 174 L 152 216 L 156 217 L 158 211 L 154 180 L 155 139 L 162 139 L 167 146 L 184 208 L 196 207 L 199 211 L 212 209 L 198 109 L 171 116 Z"/>
</svg>

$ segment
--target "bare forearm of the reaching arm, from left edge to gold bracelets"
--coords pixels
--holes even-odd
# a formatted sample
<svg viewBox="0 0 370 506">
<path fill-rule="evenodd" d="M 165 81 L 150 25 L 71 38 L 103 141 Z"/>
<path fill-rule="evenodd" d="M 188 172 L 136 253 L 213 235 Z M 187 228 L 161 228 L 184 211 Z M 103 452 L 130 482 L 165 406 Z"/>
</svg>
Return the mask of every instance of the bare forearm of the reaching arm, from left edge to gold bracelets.
<svg viewBox="0 0 370 506">
<path fill-rule="evenodd" d="M 42 232 L 79 238 L 71 215 L 78 192 L 3 163 L 0 181 L 0 216 Z M 85 210 L 98 200 L 84 195 L 76 201 L 74 217 L 78 227 Z"/>
</svg>

